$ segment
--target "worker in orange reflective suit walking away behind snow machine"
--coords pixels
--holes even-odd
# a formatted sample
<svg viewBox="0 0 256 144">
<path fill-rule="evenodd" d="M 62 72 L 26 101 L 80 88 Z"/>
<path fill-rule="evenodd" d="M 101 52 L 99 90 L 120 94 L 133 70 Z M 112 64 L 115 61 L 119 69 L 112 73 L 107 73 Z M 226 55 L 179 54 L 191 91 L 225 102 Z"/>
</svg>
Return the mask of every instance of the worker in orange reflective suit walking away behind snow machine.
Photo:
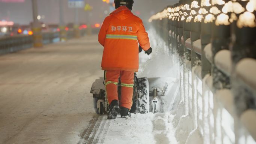
<svg viewBox="0 0 256 144">
<path fill-rule="evenodd" d="M 101 62 L 104 70 L 108 119 L 130 116 L 134 86 L 134 72 L 138 71 L 139 46 L 147 55 L 152 52 L 143 22 L 133 15 L 133 0 L 115 0 L 116 10 L 103 22 L 98 41 L 104 46 Z M 141 50 L 142 50 L 141 49 Z M 121 99 L 118 100 L 118 82 L 121 80 Z M 120 103 L 120 105 L 119 105 Z"/>
</svg>

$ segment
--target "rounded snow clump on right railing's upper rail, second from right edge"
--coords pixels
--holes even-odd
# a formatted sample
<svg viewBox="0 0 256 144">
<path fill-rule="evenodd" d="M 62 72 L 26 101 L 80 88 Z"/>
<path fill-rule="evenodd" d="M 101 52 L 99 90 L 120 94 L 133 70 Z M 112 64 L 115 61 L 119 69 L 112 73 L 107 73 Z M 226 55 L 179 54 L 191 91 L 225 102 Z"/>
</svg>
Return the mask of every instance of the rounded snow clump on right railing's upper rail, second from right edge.
<svg viewBox="0 0 256 144">
<path fill-rule="evenodd" d="M 221 70 L 227 76 L 231 75 L 232 60 L 230 50 L 223 49 L 217 52 L 214 58 L 214 62 L 219 70 Z"/>
</svg>

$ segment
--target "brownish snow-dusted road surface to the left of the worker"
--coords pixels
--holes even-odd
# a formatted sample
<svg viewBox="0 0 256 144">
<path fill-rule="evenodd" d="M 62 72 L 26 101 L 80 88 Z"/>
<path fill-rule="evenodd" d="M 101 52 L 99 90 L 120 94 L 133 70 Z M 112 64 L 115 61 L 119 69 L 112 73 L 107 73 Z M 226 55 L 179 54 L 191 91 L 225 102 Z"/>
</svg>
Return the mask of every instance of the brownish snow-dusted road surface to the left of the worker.
<svg viewBox="0 0 256 144">
<path fill-rule="evenodd" d="M 102 76 L 97 36 L 0 56 L 0 144 L 76 144 Z"/>
</svg>

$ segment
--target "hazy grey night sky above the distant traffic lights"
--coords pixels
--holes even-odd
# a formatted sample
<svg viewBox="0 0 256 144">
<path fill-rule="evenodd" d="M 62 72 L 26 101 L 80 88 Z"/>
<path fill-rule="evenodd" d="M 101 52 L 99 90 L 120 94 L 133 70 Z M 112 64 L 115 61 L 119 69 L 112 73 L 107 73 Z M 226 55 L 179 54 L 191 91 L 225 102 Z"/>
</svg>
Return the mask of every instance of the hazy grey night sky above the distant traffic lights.
<svg viewBox="0 0 256 144">
<path fill-rule="evenodd" d="M 68 0 L 62 0 L 64 6 L 65 23 L 74 22 L 74 9 L 68 8 Z M 143 21 L 156 12 L 162 10 L 165 6 L 174 4 L 177 0 L 134 0 L 132 12 L 139 16 Z M 37 0 L 39 15 L 45 15 L 42 19 L 46 24 L 59 23 L 59 0 Z M 105 10 L 109 10 L 109 5 L 103 3 L 102 0 L 85 0 L 89 3 L 93 10 L 85 12 L 79 10 L 79 21 L 87 23 L 87 16 L 91 24 L 101 23 L 108 15 L 104 14 Z M 140 14 L 139 14 L 140 13 Z M 0 2 L 0 20 L 14 21 L 19 24 L 29 24 L 32 21 L 32 4 L 31 0 L 25 0 L 24 3 L 3 3 Z"/>
</svg>

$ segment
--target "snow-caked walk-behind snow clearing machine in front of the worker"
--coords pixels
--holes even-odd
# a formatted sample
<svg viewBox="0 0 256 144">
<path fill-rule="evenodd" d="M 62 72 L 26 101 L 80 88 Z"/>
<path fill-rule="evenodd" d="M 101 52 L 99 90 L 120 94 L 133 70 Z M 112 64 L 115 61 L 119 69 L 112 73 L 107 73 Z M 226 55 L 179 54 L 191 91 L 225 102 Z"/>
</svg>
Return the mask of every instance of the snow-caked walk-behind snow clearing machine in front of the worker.
<svg viewBox="0 0 256 144">
<path fill-rule="evenodd" d="M 165 96 L 168 83 L 166 78 L 138 78 L 134 74 L 134 91 L 130 113 L 157 113 L 160 109 L 159 96 Z M 91 87 L 94 108 L 97 114 L 106 114 L 108 104 L 106 102 L 104 78 L 95 80 Z M 121 82 L 118 83 L 118 97 L 121 96 Z"/>
</svg>

